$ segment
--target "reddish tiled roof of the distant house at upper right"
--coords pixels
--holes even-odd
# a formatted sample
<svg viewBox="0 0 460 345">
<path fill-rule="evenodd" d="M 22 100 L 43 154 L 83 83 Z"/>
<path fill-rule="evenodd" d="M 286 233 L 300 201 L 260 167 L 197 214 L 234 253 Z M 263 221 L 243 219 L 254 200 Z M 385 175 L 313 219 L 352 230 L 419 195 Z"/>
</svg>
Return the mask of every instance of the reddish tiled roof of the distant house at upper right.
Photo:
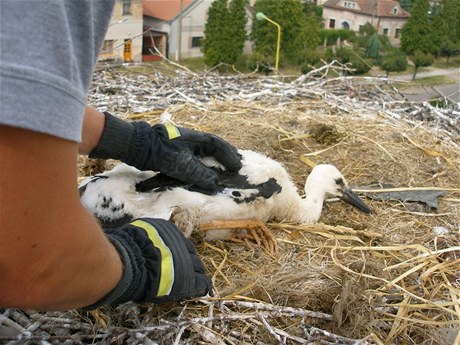
<svg viewBox="0 0 460 345">
<path fill-rule="evenodd" d="M 341 1 L 342 0 L 329 0 L 326 1 L 323 6 L 351 12 L 360 12 L 378 17 L 409 17 L 409 13 L 404 11 L 400 6 L 398 7 L 398 13 L 393 14 L 393 8 L 398 6 L 398 3 L 393 0 L 349 0 L 349 2 L 356 2 L 361 10 L 338 6 Z"/>
</svg>

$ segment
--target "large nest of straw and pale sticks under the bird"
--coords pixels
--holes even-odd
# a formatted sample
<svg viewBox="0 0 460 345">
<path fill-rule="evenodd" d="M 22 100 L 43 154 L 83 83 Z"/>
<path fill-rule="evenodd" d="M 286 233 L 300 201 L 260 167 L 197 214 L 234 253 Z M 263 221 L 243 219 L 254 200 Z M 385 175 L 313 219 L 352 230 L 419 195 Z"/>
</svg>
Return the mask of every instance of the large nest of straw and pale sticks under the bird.
<svg viewBox="0 0 460 345">
<path fill-rule="evenodd" d="M 321 223 L 268 224 L 278 239 L 276 255 L 250 242 L 206 243 L 194 234 L 214 297 L 90 313 L 2 310 L 0 322 L 19 334 L 0 342 L 458 344 L 460 112 L 408 103 L 388 80 L 345 77 L 346 66 L 326 67 L 327 78 L 319 70 L 290 80 L 104 69 L 97 76 L 109 73 L 126 85 L 139 79 L 160 85 L 166 78 L 172 86 L 162 90 L 179 100 L 152 104 L 132 90 L 126 96 L 117 82 L 111 94 L 101 93 L 96 77 L 90 101 L 128 119 L 157 123 L 167 116 L 263 152 L 284 163 L 299 190 L 314 164 L 330 163 L 358 193 L 376 182 L 445 190 L 438 209 L 365 199 L 373 209 L 366 215 L 327 202 Z M 217 85 L 214 93 L 203 92 L 209 85 Z M 82 158 L 81 176 L 102 169 L 99 163 Z"/>
</svg>

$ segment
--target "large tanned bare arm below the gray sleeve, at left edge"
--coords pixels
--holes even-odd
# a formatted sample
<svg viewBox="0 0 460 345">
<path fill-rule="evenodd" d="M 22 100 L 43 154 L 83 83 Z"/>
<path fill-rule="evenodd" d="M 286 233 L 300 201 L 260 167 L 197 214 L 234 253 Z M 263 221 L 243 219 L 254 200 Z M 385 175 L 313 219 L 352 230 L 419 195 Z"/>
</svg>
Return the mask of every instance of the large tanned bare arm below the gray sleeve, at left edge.
<svg viewBox="0 0 460 345">
<path fill-rule="evenodd" d="M 91 305 L 122 275 L 77 193 L 78 144 L 0 126 L 0 306 Z"/>
</svg>

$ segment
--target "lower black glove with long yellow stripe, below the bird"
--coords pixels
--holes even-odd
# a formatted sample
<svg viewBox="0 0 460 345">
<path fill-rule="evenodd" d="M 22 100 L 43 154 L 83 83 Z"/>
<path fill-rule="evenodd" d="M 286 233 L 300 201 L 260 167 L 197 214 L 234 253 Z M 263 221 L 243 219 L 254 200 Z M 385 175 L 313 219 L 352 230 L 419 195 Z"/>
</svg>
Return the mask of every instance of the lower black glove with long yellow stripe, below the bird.
<svg viewBox="0 0 460 345">
<path fill-rule="evenodd" d="M 212 283 L 193 243 L 172 223 L 142 218 L 104 230 L 118 250 L 123 276 L 91 310 L 128 301 L 167 303 L 212 294 Z"/>
</svg>

